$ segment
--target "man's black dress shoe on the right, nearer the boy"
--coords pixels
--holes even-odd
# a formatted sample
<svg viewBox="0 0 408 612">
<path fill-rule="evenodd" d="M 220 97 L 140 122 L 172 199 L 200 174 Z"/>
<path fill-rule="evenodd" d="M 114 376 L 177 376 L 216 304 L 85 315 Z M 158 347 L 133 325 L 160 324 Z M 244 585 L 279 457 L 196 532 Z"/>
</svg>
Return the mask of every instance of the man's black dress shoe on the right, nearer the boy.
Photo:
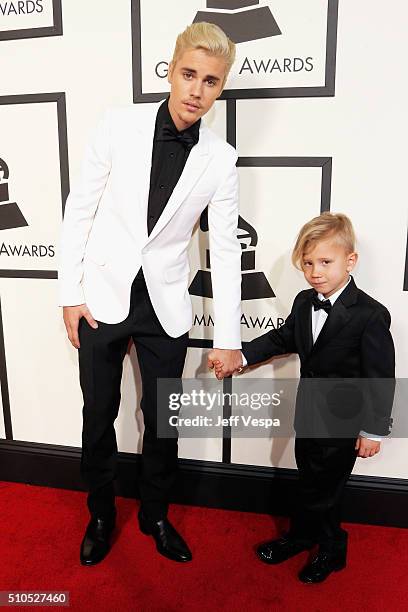
<svg viewBox="0 0 408 612">
<path fill-rule="evenodd" d="M 151 521 L 139 512 L 140 531 L 153 536 L 156 548 L 161 555 L 172 561 L 191 561 L 192 554 L 187 544 L 173 525 L 165 518 L 161 521 Z"/>
</svg>

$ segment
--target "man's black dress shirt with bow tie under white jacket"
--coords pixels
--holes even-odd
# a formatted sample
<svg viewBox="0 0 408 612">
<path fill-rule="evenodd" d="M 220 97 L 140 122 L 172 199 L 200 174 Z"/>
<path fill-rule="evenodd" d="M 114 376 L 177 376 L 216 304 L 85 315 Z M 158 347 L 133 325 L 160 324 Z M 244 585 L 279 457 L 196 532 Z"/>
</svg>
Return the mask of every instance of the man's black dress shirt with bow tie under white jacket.
<svg viewBox="0 0 408 612">
<path fill-rule="evenodd" d="M 156 225 L 180 179 L 192 146 L 198 142 L 200 124 L 201 119 L 179 132 L 171 118 L 168 99 L 157 112 L 147 208 L 148 235 Z M 183 138 L 188 140 L 189 144 L 185 144 Z"/>
</svg>

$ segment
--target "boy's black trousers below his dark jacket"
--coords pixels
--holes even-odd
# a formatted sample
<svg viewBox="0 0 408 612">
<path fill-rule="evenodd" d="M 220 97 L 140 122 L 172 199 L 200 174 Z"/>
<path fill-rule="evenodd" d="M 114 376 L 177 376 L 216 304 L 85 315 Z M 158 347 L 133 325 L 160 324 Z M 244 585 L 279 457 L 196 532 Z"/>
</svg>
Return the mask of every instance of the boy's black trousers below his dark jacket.
<svg viewBox="0 0 408 612">
<path fill-rule="evenodd" d="M 341 528 L 341 502 L 356 461 L 355 439 L 335 445 L 330 440 L 296 438 L 298 467 L 296 510 L 290 535 L 318 543 L 328 552 L 346 553 L 347 532 Z"/>
</svg>

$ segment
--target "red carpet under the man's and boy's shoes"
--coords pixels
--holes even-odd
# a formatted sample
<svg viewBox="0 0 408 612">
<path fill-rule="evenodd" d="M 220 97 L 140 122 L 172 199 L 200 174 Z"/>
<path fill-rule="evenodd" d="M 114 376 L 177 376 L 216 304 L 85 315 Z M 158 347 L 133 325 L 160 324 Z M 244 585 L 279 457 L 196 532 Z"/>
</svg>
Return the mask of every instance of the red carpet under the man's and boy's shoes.
<svg viewBox="0 0 408 612">
<path fill-rule="evenodd" d="M 0 494 L 0 590 L 69 591 L 71 605 L 65 609 L 408 609 L 408 530 L 346 525 L 348 567 L 331 574 L 324 584 L 304 585 L 296 574 L 307 553 L 275 567 L 255 557 L 254 546 L 273 537 L 285 519 L 172 506 L 170 518 L 193 552 L 193 561 L 184 565 L 156 553 L 153 539 L 138 530 L 137 503 L 119 498 L 111 552 L 100 565 L 82 567 L 79 544 L 88 522 L 84 493 L 3 482 Z"/>
</svg>

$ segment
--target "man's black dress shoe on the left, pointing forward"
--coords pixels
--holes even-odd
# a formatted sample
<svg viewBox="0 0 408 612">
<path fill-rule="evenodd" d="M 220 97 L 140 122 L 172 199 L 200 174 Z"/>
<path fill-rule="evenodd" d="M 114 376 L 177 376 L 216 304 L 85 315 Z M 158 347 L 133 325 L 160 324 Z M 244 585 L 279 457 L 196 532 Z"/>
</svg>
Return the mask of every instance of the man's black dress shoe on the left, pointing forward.
<svg viewBox="0 0 408 612">
<path fill-rule="evenodd" d="M 82 565 L 96 565 L 110 550 L 110 537 L 115 528 L 116 512 L 110 517 L 93 516 L 86 528 L 81 544 Z"/>
</svg>

